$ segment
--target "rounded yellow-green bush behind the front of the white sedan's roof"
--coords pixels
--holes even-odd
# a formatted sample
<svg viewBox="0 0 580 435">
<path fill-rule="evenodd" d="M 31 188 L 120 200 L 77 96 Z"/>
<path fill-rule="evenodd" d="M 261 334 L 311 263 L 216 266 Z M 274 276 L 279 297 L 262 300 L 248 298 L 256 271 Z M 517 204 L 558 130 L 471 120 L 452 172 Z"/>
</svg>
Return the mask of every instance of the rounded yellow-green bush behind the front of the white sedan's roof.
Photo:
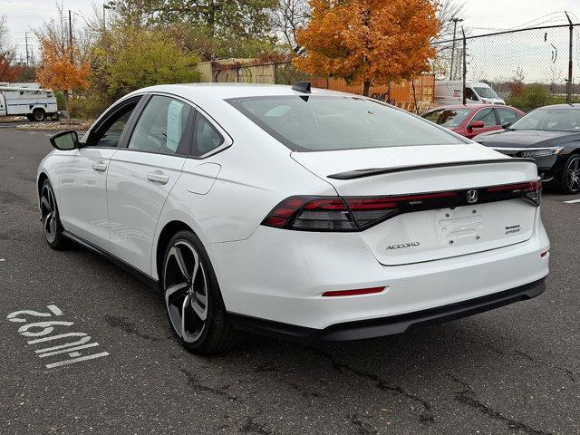
<svg viewBox="0 0 580 435">
<path fill-rule="evenodd" d="M 198 82 L 198 60 L 164 30 L 117 27 L 93 50 L 91 88 L 111 102 L 145 86 Z"/>
</svg>

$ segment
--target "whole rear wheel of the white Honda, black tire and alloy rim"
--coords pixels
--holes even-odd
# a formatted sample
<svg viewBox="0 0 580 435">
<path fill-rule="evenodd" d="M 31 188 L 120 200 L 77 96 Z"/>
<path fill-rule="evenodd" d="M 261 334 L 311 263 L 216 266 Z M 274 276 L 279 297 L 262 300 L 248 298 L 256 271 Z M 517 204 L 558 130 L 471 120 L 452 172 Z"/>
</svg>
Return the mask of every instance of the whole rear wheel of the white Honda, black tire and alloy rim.
<svg viewBox="0 0 580 435">
<path fill-rule="evenodd" d="M 195 234 L 179 231 L 171 238 L 161 272 L 169 325 L 183 347 L 211 355 L 237 343 L 240 334 L 227 321 L 218 279 Z"/>
</svg>

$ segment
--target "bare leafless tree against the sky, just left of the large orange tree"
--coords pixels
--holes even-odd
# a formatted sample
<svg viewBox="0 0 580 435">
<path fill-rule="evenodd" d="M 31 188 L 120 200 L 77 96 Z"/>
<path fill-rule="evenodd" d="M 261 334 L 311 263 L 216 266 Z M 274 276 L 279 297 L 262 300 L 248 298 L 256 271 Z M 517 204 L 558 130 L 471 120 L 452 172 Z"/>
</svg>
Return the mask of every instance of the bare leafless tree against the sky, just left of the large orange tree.
<svg viewBox="0 0 580 435">
<path fill-rule="evenodd" d="M 298 53 L 300 47 L 296 44 L 296 30 L 304 27 L 310 18 L 308 0 L 280 0 L 272 12 L 272 25 L 275 33 L 290 48 Z"/>
</svg>

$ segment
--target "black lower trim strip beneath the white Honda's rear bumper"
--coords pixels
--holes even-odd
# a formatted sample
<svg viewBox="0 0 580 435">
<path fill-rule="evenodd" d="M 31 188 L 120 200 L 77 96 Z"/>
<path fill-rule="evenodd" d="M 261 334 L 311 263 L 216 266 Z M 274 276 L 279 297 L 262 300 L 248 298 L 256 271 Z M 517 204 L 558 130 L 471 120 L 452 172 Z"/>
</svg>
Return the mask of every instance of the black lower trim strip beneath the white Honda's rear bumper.
<svg viewBox="0 0 580 435">
<path fill-rule="evenodd" d="M 411 328 L 427 324 L 441 324 L 469 315 L 479 314 L 518 301 L 541 295 L 546 290 L 545 278 L 527 285 L 492 295 L 485 295 L 415 313 L 391 315 L 377 319 L 333 324 L 324 329 L 308 328 L 294 324 L 283 324 L 266 319 L 229 313 L 229 320 L 238 329 L 269 336 L 285 336 L 300 340 L 360 340 L 395 333 L 404 333 Z"/>
</svg>

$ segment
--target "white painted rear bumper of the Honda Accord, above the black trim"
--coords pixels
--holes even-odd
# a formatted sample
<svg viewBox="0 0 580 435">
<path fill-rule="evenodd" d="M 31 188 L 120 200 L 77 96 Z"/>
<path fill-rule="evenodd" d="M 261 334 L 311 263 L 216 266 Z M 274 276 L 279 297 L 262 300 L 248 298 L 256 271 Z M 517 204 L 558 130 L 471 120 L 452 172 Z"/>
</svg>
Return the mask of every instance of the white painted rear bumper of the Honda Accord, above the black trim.
<svg viewBox="0 0 580 435">
<path fill-rule="evenodd" d="M 549 255 L 542 256 L 549 241 L 539 210 L 533 236 L 525 242 L 402 266 L 381 265 L 360 233 L 260 226 L 247 240 L 207 248 L 228 313 L 310 332 L 498 295 L 541 280 L 549 272 Z M 385 290 L 372 295 L 322 296 L 381 286 Z"/>
</svg>

